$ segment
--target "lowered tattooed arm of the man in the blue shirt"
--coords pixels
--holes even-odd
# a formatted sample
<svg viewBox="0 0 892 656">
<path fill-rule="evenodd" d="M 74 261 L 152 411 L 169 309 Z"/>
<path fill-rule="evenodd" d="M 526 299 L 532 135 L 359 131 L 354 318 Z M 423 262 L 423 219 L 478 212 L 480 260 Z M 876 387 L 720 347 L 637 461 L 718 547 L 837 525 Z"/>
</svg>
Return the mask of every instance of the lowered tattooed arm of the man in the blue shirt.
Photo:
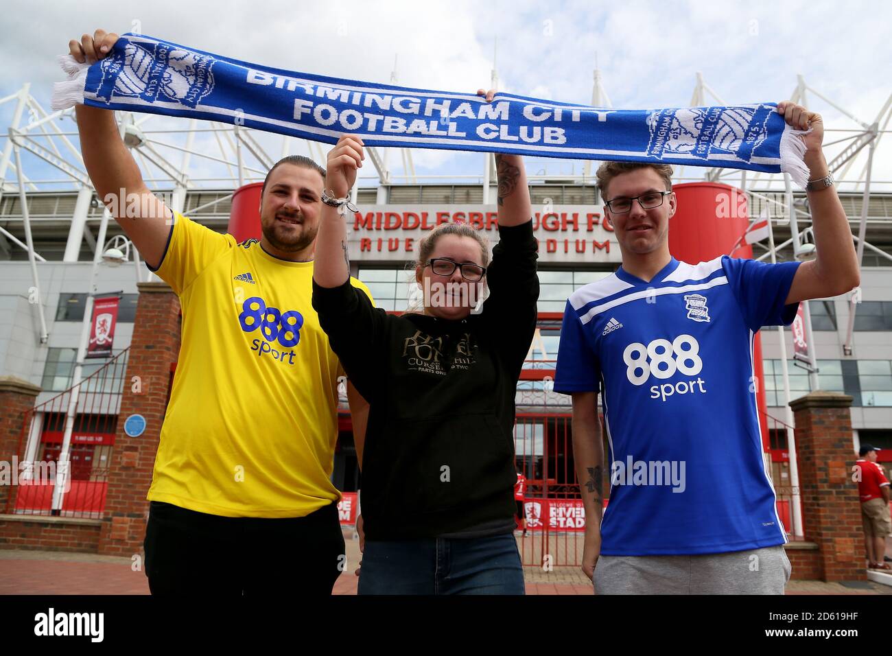
<svg viewBox="0 0 892 656">
<path fill-rule="evenodd" d="M 601 551 L 601 516 L 604 509 L 604 444 L 598 419 L 598 393 L 573 394 L 573 457 L 585 507 L 585 543 L 582 571 L 592 578 Z"/>
</svg>

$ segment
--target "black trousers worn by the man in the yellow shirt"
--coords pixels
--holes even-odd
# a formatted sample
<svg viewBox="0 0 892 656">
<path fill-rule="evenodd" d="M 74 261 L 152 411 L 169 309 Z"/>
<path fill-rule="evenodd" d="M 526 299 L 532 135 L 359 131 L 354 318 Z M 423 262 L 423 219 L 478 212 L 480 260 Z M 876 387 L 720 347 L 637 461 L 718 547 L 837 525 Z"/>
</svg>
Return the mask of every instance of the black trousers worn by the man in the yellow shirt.
<svg viewBox="0 0 892 656">
<path fill-rule="evenodd" d="M 327 595 L 348 567 L 335 503 L 261 519 L 151 502 L 143 546 L 152 594 Z"/>
</svg>

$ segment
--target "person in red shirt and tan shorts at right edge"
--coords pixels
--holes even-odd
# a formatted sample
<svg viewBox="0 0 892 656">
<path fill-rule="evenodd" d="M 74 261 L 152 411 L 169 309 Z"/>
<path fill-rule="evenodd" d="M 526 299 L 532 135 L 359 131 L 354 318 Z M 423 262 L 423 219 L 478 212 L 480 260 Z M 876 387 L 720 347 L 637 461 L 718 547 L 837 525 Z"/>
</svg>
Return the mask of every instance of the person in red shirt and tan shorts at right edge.
<svg viewBox="0 0 892 656">
<path fill-rule="evenodd" d="M 861 459 L 855 462 L 858 494 L 861 495 L 861 521 L 864 526 L 864 544 L 867 546 L 870 569 L 892 569 L 883 561 L 886 555 L 886 536 L 892 533 L 889 521 L 889 482 L 883 469 L 877 464 L 880 449 L 863 444 L 858 451 Z"/>
</svg>

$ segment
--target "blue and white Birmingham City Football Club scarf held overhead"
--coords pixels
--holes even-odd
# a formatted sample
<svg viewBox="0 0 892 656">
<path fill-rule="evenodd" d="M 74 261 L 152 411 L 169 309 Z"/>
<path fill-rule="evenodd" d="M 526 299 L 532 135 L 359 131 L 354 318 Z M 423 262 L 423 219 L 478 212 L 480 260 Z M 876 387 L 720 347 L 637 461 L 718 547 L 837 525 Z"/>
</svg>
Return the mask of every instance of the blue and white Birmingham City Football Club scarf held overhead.
<svg viewBox="0 0 892 656">
<path fill-rule="evenodd" d="M 805 187 L 805 145 L 773 103 L 615 110 L 497 94 L 371 84 L 282 71 L 125 34 L 89 66 L 60 58 L 68 81 L 53 109 L 103 109 L 217 120 L 334 144 L 516 153 L 787 172 Z"/>
</svg>

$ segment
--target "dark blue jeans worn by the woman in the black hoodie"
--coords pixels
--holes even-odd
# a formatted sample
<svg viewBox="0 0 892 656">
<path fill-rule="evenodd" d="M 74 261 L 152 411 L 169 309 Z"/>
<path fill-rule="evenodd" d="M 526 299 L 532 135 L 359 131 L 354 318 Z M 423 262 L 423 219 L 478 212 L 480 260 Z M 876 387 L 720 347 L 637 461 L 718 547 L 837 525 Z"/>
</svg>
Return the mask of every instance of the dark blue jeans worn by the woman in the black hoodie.
<svg viewBox="0 0 892 656">
<path fill-rule="evenodd" d="M 359 594 L 525 594 L 514 535 L 366 541 Z"/>
</svg>

